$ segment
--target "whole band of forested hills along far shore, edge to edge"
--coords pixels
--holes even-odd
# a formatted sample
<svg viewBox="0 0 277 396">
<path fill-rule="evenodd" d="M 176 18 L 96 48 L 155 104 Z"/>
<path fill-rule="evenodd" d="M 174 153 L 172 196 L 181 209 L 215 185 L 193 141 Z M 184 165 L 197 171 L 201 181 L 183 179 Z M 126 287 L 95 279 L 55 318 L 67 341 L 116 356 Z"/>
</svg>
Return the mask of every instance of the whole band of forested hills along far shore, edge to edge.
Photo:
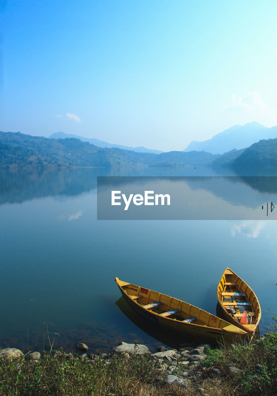
<svg viewBox="0 0 277 396">
<path fill-rule="evenodd" d="M 161 154 L 135 152 L 118 147 L 102 148 L 76 138 L 49 139 L 17 132 L 0 132 L 0 166 L 42 167 L 158 167 L 175 166 L 277 166 L 277 138 L 260 140 L 224 154 L 205 151 L 170 151 Z"/>
</svg>

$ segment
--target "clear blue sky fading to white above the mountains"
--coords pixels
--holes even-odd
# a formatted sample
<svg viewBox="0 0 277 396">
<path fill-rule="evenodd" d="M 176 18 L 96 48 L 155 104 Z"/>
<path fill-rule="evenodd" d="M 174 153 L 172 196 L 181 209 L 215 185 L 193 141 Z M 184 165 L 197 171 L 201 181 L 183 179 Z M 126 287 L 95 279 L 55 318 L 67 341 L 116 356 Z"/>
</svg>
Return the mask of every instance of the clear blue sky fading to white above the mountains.
<svg viewBox="0 0 277 396">
<path fill-rule="evenodd" d="M 0 130 L 183 150 L 277 125 L 277 2 L 5 1 Z"/>
</svg>

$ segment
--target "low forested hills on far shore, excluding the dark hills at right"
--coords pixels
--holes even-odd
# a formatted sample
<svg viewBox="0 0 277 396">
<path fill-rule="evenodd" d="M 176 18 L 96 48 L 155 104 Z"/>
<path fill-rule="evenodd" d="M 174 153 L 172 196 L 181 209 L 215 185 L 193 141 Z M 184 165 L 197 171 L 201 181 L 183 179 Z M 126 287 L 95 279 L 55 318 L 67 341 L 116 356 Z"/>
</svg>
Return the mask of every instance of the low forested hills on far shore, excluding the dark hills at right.
<svg viewBox="0 0 277 396">
<path fill-rule="evenodd" d="M 171 151 L 153 154 L 101 148 L 80 139 L 47 139 L 17 132 L 0 132 L 2 167 L 129 167 L 129 166 L 207 166 L 217 158 L 206 152 Z"/>
</svg>

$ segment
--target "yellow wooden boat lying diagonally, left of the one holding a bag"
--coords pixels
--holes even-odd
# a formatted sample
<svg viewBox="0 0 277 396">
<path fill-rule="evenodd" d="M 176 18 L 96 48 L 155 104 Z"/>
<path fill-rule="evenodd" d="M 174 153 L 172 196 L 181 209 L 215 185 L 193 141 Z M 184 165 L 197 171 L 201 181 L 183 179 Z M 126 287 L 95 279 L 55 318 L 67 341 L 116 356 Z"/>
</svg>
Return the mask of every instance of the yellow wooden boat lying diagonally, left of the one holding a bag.
<svg viewBox="0 0 277 396">
<path fill-rule="evenodd" d="M 236 325 L 194 305 L 118 278 L 115 281 L 127 303 L 144 320 L 169 331 L 171 336 L 176 333 L 205 342 L 220 338 L 233 341 L 235 337 L 247 335 Z"/>
</svg>

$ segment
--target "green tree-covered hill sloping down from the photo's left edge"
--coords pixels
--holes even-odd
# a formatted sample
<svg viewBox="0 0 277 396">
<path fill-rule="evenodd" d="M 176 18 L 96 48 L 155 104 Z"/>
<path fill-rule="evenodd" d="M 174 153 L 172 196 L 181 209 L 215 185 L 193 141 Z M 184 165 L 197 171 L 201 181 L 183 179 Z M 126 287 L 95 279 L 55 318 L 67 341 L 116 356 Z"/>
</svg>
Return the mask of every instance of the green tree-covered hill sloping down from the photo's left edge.
<svg viewBox="0 0 277 396">
<path fill-rule="evenodd" d="M 0 165 L 3 167 L 144 166 L 157 154 L 120 148 L 101 148 L 80 139 L 47 139 L 17 132 L 0 132 Z"/>
</svg>

